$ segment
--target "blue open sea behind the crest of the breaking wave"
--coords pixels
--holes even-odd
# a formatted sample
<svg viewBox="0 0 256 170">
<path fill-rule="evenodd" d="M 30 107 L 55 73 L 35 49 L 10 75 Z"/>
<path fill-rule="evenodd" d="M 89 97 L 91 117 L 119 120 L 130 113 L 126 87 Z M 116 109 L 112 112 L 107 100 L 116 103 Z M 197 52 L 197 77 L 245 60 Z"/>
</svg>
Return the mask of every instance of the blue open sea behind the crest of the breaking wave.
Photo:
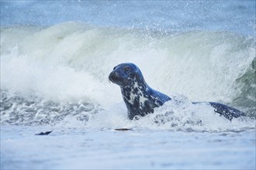
<svg viewBox="0 0 256 170">
<path fill-rule="evenodd" d="M 255 1 L 1 1 L 1 25 L 96 26 L 255 34 Z"/>
</svg>

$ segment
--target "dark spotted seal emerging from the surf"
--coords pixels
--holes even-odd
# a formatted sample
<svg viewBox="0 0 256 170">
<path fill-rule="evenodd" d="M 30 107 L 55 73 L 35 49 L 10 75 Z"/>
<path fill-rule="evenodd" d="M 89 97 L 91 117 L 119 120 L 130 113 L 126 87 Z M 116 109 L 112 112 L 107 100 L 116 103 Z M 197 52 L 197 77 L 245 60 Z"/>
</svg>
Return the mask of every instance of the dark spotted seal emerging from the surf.
<svg viewBox="0 0 256 170">
<path fill-rule="evenodd" d="M 155 107 L 161 107 L 166 101 L 171 100 L 171 97 L 149 87 L 140 69 L 133 63 L 121 63 L 115 66 L 109 74 L 109 80 L 121 88 L 130 120 L 137 116 L 154 113 Z M 206 102 L 192 102 L 192 104 L 202 103 Z M 214 108 L 216 113 L 223 115 L 230 121 L 233 117 L 245 115 L 240 110 L 225 104 L 207 103 Z"/>
</svg>

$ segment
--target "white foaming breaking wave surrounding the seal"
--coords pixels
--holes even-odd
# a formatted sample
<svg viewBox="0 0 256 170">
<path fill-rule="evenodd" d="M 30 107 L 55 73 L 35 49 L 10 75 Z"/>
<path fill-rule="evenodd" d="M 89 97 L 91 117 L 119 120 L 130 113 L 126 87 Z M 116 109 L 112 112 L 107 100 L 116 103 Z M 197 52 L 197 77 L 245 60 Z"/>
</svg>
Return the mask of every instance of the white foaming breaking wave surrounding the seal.
<svg viewBox="0 0 256 170">
<path fill-rule="evenodd" d="M 136 63 L 168 102 L 138 121 L 126 119 L 113 66 Z M 254 120 L 227 121 L 207 105 L 218 101 L 255 116 L 255 42 L 230 32 L 159 32 L 65 22 L 1 29 L 1 122 L 81 124 L 88 128 L 237 131 Z M 249 80 L 249 81 L 248 81 Z M 74 121 L 74 122 L 72 122 Z M 213 123 L 214 122 L 214 123 Z"/>
</svg>

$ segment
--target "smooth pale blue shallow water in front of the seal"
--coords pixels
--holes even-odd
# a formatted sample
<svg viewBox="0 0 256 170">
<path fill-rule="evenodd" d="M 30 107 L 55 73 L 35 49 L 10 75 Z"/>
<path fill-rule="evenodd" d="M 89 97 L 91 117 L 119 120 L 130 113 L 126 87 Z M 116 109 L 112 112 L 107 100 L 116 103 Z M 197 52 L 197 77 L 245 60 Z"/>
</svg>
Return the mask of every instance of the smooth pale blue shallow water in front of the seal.
<svg viewBox="0 0 256 170">
<path fill-rule="evenodd" d="M 48 136 L 35 131 L 53 130 Z M 2 126 L 2 169 L 254 169 L 254 131 Z"/>
</svg>

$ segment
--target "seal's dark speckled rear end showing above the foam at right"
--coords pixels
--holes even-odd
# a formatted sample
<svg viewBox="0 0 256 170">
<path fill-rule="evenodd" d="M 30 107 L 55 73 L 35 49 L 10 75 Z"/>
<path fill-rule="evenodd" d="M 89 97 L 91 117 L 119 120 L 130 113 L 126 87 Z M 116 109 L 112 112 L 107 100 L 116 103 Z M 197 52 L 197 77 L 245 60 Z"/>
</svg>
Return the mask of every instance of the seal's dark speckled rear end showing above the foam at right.
<svg viewBox="0 0 256 170">
<path fill-rule="evenodd" d="M 225 104 L 219 104 L 216 102 L 209 102 L 209 104 L 214 108 L 216 113 L 223 115 L 223 117 L 226 117 L 230 121 L 233 119 L 233 117 L 237 118 L 240 116 L 246 116 L 244 112 L 241 112 L 240 110 Z"/>
</svg>

